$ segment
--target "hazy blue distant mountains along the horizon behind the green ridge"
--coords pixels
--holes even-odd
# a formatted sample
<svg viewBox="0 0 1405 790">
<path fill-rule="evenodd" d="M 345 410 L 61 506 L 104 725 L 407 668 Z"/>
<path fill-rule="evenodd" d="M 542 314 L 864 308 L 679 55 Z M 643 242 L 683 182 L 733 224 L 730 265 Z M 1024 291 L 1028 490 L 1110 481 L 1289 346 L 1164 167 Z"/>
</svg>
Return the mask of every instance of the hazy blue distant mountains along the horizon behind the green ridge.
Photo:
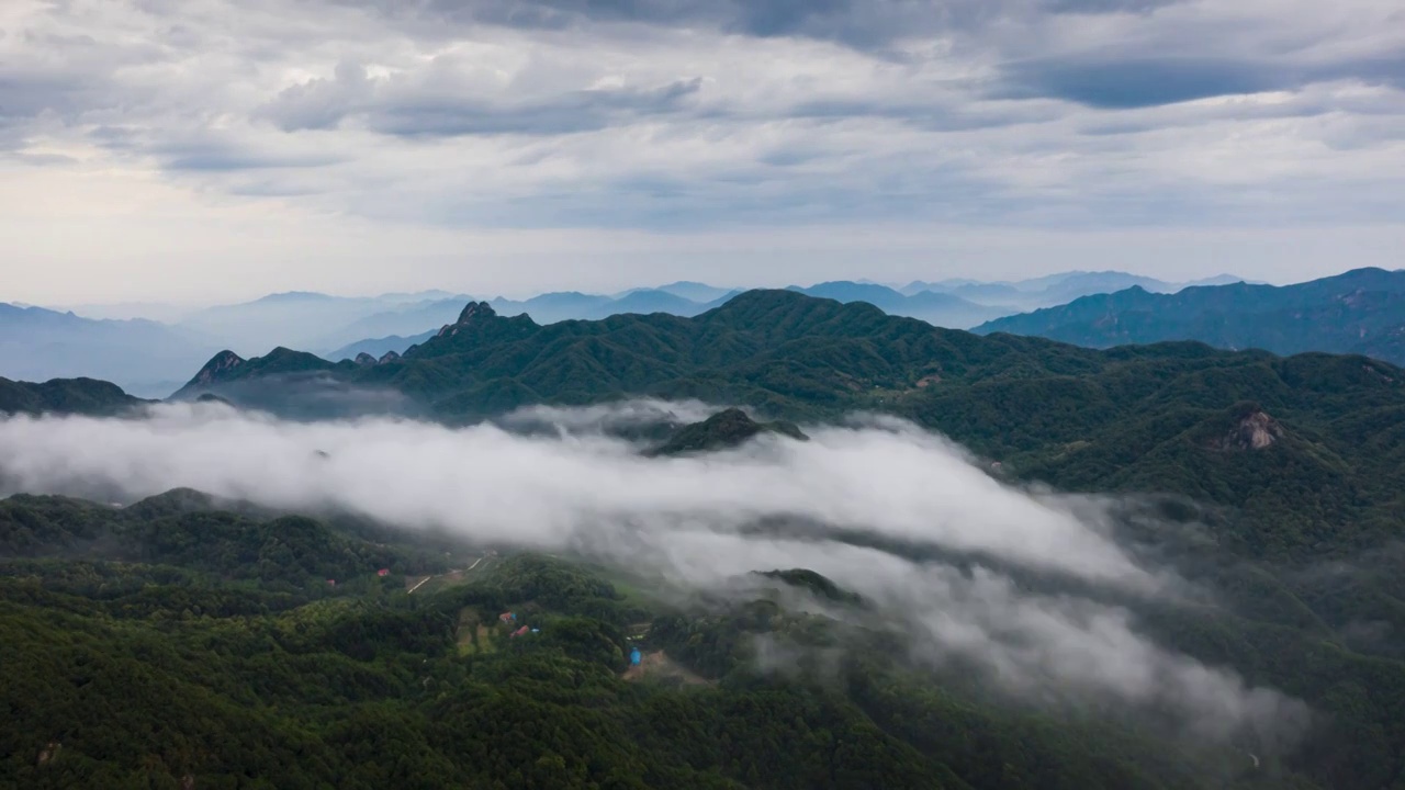
<svg viewBox="0 0 1405 790">
<path fill-rule="evenodd" d="M 1215 283 L 1231 280 L 1238 278 L 1213 278 Z M 1347 291 L 1359 290 L 1349 278 L 1284 287 L 1283 291 L 1291 295 L 1281 302 L 1286 305 L 1281 309 L 1267 297 L 1277 292 L 1272 285 L 1234 283 L 1183 288 L 1118 271 L 1073 271 L 1013 283 L 912 283 L 903 288 L 830 281 L 788 290 L 846 304 L 867 302 L 889 315 L 917 318 L 934 326 L 1037 333 L 1096 347 L 1198 339 L 1229 349 L 1342 350 L 1402 361 L 1399 353 L 1391 350 L 1399 344 L 1391 335 L 1391 328 L 1397 326 L 1394 316 L 1399 313 L 1397 297 L 1391 295 L 1395 291 L 1373 291 L 1375 285 L 1370 283 L 1363 287 L 1366 290 L 1352 302 L 1342 299 Z M 1107 295 L 1117 288 L 1123 290 L 1116 298 Z M 701 283 L 672 283 L 614 295 L 565 291 L 528 299 L 499 297 L 486 302 L 500 315 L 528 315 L 538 325 L 551 325 L 625 313 L 690 318 L 725 304 L 738 292 Z M 1068 299 L 1073 301 L 1064 311 L 1041 308 L 1027 318 L 1010 315 Z M 1205 308 L 1197 306 L 1205 299 Z M 1229 306 L 1235 299 L 1248 299 L 1249 306 Z M 354 360 L 361 354 L 379 360 L 389 351 L 400 354 L 433 337 L 440 326 L 452 323 L 466 301 L 469 297 L 447 291 L 368 298 L 288 292 L 207 308 L 173 325 L 142 319 L 94 320 L 44 308 L 3 305 L 0 375 L 35 381 L 96 375 L 140 396 L 160 396 L 178 388 L 198 360 L 221 347 L 243 357 L 274 347 L 306 349 L 330 360 Z M 1248 320 L 1248 315 L 1253 315 L 1253 320 Z M 1109 323 L 1109 316 L 1117 318 Z"/>
</svg>

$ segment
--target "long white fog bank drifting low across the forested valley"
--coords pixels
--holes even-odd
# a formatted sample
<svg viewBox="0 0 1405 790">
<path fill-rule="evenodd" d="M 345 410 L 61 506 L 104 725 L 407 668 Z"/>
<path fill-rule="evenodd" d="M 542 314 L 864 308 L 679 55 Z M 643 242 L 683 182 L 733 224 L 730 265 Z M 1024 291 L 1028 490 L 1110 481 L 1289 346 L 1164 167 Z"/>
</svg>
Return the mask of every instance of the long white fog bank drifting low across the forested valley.
<svg viewBox="0 0 1405 790">
<path fill-rule="evenodd" d="M 693 409 L 537 412 L 561 417 L 563 433 L 532 437 L 385 419 L 284 423 L 215 403 L 160 406 L 146 419 L 11 417 L 0 420 L 0 479 L 34 492 L 98 486 L 136 498 L 191 486 L 275 507 L 332 506 L 582 551 L 701 590 L 805 566 L 878 604 L 919 661 L 974 663 L 1017 694 L 1169 708 L 1210 737 L 1304 723 L 1301 703 L 1158 645 L 1118 606 L 1026 589 L 993 562 L 919 561 L 806 527 L 972 552 L 1121 596 L 1177 596 L 1182 582 L 1113 540 L 1104 503 L 1005 486 L 940 437 L 860 422 L 811 427 L 808 443 L 646 460 L 638 446 L 582 433 Z M 764 520 L 795 527 L 784 537 L 750 529 Z"/>
</svg>

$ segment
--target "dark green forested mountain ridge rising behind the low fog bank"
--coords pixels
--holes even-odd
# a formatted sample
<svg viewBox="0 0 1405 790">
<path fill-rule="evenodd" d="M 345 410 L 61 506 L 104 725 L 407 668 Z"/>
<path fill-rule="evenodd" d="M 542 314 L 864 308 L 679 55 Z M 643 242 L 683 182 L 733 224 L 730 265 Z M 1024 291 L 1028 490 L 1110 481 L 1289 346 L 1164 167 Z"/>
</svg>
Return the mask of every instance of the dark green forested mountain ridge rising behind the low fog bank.
<svg viewBox="0 0 1405 790">
<path fill-rule="evenodd" d="M 1405 533 L 1395 506 L 1405 488 L 1405 371 L 1357 356 L 1198 343 L 1090 350 L 752 291 L 693 319 L 549 326 L 471 304 L 400 358 L 226 357 L 184 394 L 229 385 L 244 398 L 260 387 L 282 394 L 288 375 L 395 392 L 448 422 L 627 396 L 697 398 L 792 422 L 880 410 L 940 430 L 1023 479 L 1227 506 L 1253 524 L 1242 536 L 1252 554 L 1308 558 Z M 1224 441 L 1257 412 L 1281 440 L 1250 450 Z"/>
</svg>

